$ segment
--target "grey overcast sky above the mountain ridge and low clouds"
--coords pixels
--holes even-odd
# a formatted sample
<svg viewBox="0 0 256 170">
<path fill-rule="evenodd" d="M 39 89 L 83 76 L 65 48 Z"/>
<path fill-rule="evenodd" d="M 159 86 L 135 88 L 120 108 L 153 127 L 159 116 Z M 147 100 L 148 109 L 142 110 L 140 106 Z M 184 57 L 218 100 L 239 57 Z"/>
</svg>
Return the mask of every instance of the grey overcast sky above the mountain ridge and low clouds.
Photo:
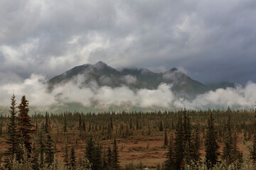
<svg viewBox="0 0 256 170">
<path fill-rule="evenodd" d="M 256 81 L 255 0 L 1 0 L 0 83 L 102 60 Z"/>
</svg>

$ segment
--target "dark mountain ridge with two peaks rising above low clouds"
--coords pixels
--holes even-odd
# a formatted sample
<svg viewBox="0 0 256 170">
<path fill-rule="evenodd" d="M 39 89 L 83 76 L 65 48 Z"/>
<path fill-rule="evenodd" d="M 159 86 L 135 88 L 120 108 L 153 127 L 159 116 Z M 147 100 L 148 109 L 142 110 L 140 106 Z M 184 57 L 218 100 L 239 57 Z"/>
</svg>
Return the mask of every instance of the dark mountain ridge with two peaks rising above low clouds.
<svg viewBox="0 0 256 170">
<path fill-rule="evenodd" d="M 78 77 L 80 77 L 79 80 Z M 209 87 L 193 80 L 176 68 L 164 73 L 151 72 L 149 69 L 128 68 L 118 71 L 104 62 L 83 64 L 53 77 L 48 80 L 49 89 L 69 81 L 82 81 L 81 88 L 92 86 L 92 82 L 97 83 L 97 86 L 128 86 L 130 89 L 156 89 L 162 83 L 173 84 L 171 89 L 174 94 L 188 99 L 214 89 L 214 86 Z"/>
</svg>

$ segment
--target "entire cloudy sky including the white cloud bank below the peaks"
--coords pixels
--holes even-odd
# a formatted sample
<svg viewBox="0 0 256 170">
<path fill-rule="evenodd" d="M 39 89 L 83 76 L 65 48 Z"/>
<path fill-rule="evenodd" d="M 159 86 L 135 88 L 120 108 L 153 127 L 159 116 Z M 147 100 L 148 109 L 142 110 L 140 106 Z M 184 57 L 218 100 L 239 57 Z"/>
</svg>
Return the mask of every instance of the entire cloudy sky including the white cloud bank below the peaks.
<svg viewBox="0 0 256 170">
<path fill-rule="evenodd" d="M 106 107 L 252 108 L 255 16 L 255 0 L 1 0 L 0 106 L 9 106 L 15 93 L 18 98 L 26 94 L 44 110 L 76 100 L 85 107 L 97 102 Z M 176 98 L 171 84 L 132 91 L 97 84 L 80 89 L 69 82 L 47 92 L 47 79 L 98 61 L 153 72 L 176 67 L 204 84 L 244 86 L 208 91 L 193 101 Z"/>
</svg>

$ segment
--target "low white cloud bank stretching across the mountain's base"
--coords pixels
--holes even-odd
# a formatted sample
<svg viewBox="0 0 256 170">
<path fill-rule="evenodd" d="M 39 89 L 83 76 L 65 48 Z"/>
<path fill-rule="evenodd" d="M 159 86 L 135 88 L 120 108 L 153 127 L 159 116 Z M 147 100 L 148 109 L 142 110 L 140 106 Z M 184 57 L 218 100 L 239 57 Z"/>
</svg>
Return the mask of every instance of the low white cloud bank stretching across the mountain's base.
<svg viewBox="0 0 256 170">
<path fill-rule="evenodd" d="M 129 77 L 130 78 L 130 77 Z M 0 106 L 9 106 L 10 97 L 14 93 L 17 103 L 23 94 L 26 95 L 30 106 L 40 111 L 49 108 L 58 108 L 68 103 L 80 103 L 84 107 L 110 108 L 120 106 L 125 108 L 253 108 L 256 101 L 256 84 L 248 82 L 245 87 L 217 89 L 208 91 L 188 101 L 185 98 L 178 98 L 171 91 L 171 84 L 161 84 L 157 89 L 131 90 L 127 86 L 111 88 L 110 86 L 97 86 L 92 81 L 87 87 L 82 87 L 85 77 L 76 77 L 66 84 L 55 86 L 49 92 L 46 78 L 32 74 L 29 79 L 7 82 L 0 84 Z"/>
</svg>

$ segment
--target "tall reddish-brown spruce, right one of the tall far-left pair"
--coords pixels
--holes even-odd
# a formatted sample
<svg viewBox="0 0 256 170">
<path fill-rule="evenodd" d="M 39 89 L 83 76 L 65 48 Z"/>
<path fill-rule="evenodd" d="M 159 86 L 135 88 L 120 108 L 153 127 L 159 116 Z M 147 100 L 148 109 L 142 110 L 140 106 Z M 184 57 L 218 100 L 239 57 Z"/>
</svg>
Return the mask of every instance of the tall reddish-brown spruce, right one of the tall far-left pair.
<svg viewBox="0 0 256 170">
<path fill-rule="evenodd" d="M 31 118 L 28 116 L 28 111 L 28 101 L 26 100 L 26 96 L 22 96 L 21 103 L 18 106 L 18 129 L 24 146 L 28 151 L 28 157 L 30 157 L 31 137 L 35 130 L 33 129 L 34 126 L 31 124 Z"/>
</svg>

